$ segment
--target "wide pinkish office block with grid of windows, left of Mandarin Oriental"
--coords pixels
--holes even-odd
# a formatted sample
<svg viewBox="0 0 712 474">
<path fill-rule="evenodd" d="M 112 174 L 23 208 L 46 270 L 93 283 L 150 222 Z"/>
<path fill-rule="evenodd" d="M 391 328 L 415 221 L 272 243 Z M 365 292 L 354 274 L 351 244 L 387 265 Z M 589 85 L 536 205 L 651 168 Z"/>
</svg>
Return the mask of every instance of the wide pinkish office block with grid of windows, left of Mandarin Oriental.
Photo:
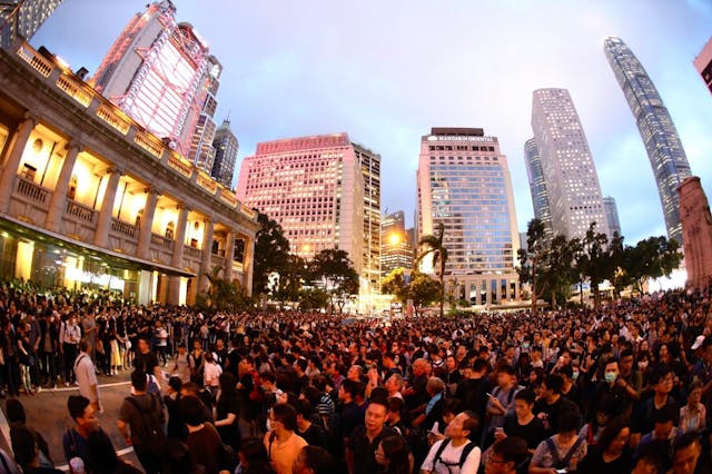
<svg viewBox="0 0 712 474">
<path fill-rule="evenodd" d="M 364 177 L 346 134 L 257 145 L 243 159 L 236 195 L 284 229 L 293 254 L 346 250 L 364 278 Z"/>
</svg>

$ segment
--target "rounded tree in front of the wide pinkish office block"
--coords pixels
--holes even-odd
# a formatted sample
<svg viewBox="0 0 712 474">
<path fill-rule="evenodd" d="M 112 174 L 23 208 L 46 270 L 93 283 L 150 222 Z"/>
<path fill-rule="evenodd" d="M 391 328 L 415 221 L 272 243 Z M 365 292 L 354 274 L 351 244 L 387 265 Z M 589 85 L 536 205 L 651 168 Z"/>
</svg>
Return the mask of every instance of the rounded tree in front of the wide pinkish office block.
<svg viewBox="0 0 712 474">
<path fill-rule="evenodd" d="M 332 310 L 336 303 L 340 313 L 348 296 L 358 294 L 358 274 L 346 250 L 324 249 L 314 256 L 308 267 L 310 279 L 329 294 Z"/>
</svg>

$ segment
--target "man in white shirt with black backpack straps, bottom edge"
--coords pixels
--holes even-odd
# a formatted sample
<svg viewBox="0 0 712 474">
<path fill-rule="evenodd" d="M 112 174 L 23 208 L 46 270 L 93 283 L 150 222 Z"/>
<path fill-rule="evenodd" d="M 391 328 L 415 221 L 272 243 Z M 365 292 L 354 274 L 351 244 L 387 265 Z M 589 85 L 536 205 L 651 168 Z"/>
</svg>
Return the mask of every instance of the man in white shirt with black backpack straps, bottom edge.
<svg viewBox="0 0 712 474">
<path fill-rule="evenodd" d="M 431 447 L 421 473 L 475 474 L 482 453 L 468 436 L 477 431 L 478 423 L 467 412 L 455 416 L 445 428 L 446 437 Z"/>
</svg>

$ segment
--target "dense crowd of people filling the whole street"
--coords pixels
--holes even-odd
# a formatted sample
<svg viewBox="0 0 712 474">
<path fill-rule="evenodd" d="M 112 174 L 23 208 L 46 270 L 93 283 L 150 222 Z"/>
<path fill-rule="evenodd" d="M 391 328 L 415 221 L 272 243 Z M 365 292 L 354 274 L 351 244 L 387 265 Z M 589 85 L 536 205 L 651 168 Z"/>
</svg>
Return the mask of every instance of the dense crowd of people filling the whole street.
<svg viewBox="0 0 712 474">
<path fill-rule="evenodd" d="M 709 473 L 710 298 L 354 319 L 6 283 L 0 387 L 14 458 L 0 455 L 0 470 L 53 472 L 18 397 L 77 383 L 62 440 L 73 472 Z M 117 457 L 115 426 L 99 426 L 95 369 L 130 371 L 131 395 L 102 419 L 140 466 Z"/>
</svg>

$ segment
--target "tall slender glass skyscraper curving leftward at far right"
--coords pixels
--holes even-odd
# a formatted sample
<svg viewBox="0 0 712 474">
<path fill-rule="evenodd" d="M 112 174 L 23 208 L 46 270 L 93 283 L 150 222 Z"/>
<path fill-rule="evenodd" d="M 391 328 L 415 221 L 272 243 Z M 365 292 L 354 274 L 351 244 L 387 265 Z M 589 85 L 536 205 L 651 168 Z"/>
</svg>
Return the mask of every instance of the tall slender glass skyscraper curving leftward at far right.
<svg viewBox="0 0 712 474">
<path fill-rule="evenodd" d="M 653 167 L 668 238 L 674 238 L 682 244 L 676 189 L 691 172 L 675 125 L 643 65 L 623 40 L 609 37 L 603 43 L 603 49 L 633 112 Z"/>
</svg>

